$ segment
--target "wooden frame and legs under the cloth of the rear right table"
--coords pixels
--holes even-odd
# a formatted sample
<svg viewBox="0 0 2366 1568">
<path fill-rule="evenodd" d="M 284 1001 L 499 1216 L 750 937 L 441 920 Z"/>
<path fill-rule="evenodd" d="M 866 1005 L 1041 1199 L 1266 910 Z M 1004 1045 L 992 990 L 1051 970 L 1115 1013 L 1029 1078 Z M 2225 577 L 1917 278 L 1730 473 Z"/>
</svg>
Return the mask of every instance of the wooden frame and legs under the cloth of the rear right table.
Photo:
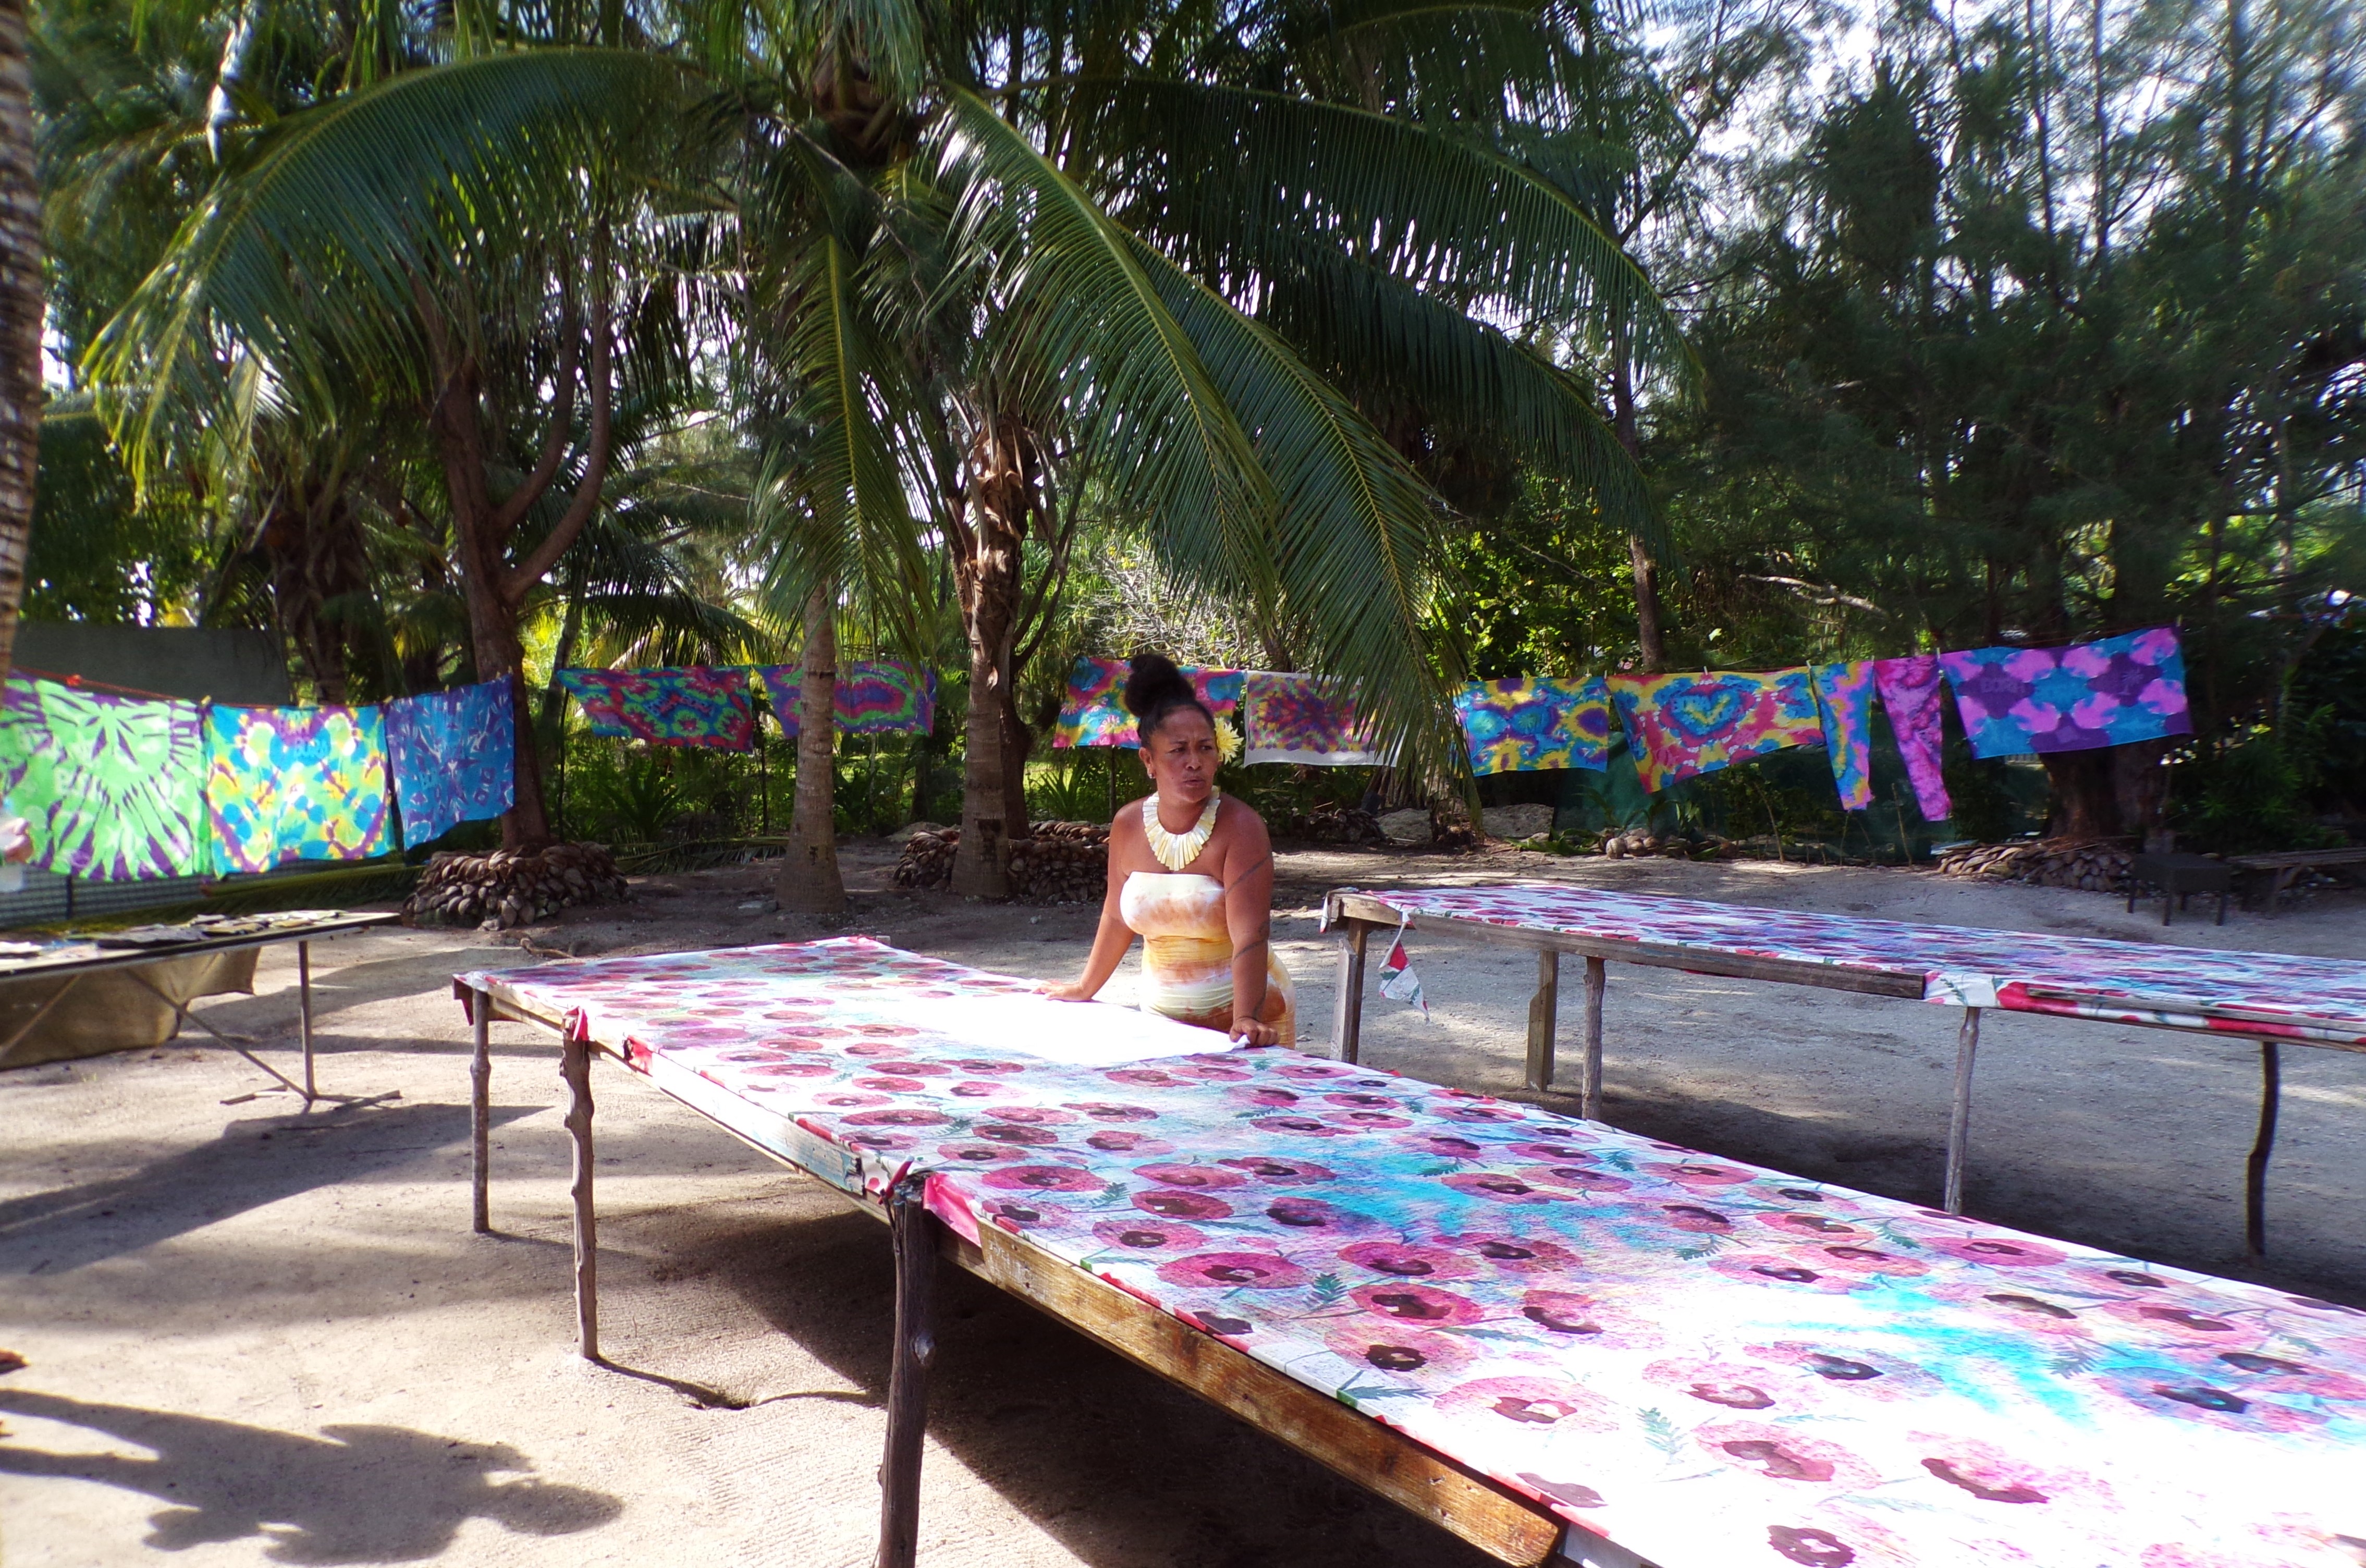
<svg viewBox="0 0 2366 1568">
<path fill-rule="evenodd" d="M 1583 889 L 1573 889 L 1583 892 Z M 1372 932 L 1396 932 L 1405 913 L 1386 901 L 1386 894 L 1356 889 L 1332 889 L 1323 896 L 1323 925 L 1337 932 L 1339 984 L 1332 998 L 1332 1043 L 1342 1062 L 1356 1062 L 1363 1036 L 1363 970 L 1365 946 Z M 1528 1000 L 1528 1088 L 1550 1090 L 1557 1055 L 1557 1012 L 1562 984 L 1562 953 L 1585 958 L 1585 1057 L 1578 1078 L 1578 1114 L 1588 1121 L 1602 1119 L 1602 993 L 1607 989 L 1604 965 L 1609 960 L 1644 965 L 1654 970 L 1685 970 L 1689 974 L 1718 974 L 1730 979 L 1767 979 L 1789 986 L 1817 986 L 1824 991 L 1860 991 L 1867 996 L 1900 996 L 1921 1003 L 1924 974 L 1888 967 L 1850 967 L 1829 963 L 1801 963 L 1786 958 L 1751 958 L 1680 941 L 1621 941 L 1583 932 L 1547 932 L 1533 927 L 1493 925 L 1488 920 L 1465 920 L 1457 915 L 1417 913 L 1413 927 L 1431 934 L 1469 937 L 1474 941 L 1536 951 L 1536 996 Z M 2032 996 L 2054 1000 L 2110 1000 L 2066 986 L 2032 986 Z M 1926 1003 L 1928 1005 L 1928 1003 Z M 2184 1003 L 2179 1003 L 2184 1005 Z M 1947 1114 L 1947 1166 L 1945 1206 L 1947 1213 L 1964 1213 L 1964 1154 L 1971 1142 L 1971 1078 L 1980 1052 L 1983 1007 L 1961 1007 L 1954 1043 L 1954 1093 Z M 2032 1017 L 2070 1019 L 2077 1015 L 2037 1012 Z M 2207 1010 L 2226 1024 L 2260 1024 L 2267 1019 L 2245 1017 L 2241 1010 Z M 2333 1041 L 2281 1041 L 2269 1036 L 2245 1036 L 2241 1029 L 2193 1029 L 2153 1019 L 2087 1019 L 2096 1024 L 2125 1024 L 2129 1029 L 2170 1029 L 2174 1034 L 2200 1034 L 2215 1041 L 2252 1038 L 2260 1045 L 2260 1126 L 2252 1135 L 2243 1175 L 2243 1242 L 2252 1258 L 2267 1256 L 2267 1164 L 2276 1152 L 2276 1112 L 2283 1095 L 2281 1045 L 2316 1045 L 2321 1050 L 2366 1050 L 2366 1045 L 2338 1045 Z"/>
</svg>

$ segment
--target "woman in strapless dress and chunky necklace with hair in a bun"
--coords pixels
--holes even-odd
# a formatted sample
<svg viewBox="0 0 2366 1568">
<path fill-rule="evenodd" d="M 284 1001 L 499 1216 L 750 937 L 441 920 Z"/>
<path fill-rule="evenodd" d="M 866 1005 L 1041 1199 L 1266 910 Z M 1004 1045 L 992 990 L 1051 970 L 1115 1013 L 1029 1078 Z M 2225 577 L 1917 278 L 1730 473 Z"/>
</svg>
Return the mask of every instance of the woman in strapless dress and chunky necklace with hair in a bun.
<svg viewBox="0 0 2366 1568">
<path fill-rule="evenodd" d="M 1216 788 L 1216 714 L 1183 672 L 1145 653 L 1126 712 L 1150 771 L 1148 799 L 1110 823 L 1110 894 L 1084 979 L 1051 996 L 1086 1003 L 1143 941 L 1143 1010 L 1242 1045 L 1289 1045 L 1289 972 L 1273 958 L 1273 844 L 1266 823 Z"/>
</svg>

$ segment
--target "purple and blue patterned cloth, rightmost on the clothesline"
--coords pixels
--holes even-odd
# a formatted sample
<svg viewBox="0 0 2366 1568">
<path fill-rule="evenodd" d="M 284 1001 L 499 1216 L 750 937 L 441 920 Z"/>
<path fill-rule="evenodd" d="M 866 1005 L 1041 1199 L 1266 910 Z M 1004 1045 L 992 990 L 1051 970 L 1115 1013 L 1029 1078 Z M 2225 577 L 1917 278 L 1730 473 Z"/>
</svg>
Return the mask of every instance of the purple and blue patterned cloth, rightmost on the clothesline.
<svg viewBox="0 0 2366 1568">
<path fill-rule="evenodd" d="M 1973 757 L 2089 752 L 2193 733 L 2174 627 L 2070 648 L 1971 648 L 1938 662 Z"/>
</svg>

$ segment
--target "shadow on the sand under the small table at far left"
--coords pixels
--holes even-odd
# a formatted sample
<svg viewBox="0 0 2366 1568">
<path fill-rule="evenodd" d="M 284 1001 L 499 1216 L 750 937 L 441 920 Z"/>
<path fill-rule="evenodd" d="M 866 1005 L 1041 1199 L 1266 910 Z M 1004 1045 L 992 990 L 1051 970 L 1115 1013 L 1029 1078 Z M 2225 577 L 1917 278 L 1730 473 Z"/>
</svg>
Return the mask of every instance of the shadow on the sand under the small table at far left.
<svg viewBox="0 0 2366 1568">
<path fill-rule="evenodd" d="M 494 1107 L 494 1126 L 537 1107 Z M 362 1180 L 468 1138 L 466 1104 L 258 1116 L 130 1175 L 0 1201 L 0 1277 L 50 1275 L 168 1242 L 296 1192 Z"/>
</svg>

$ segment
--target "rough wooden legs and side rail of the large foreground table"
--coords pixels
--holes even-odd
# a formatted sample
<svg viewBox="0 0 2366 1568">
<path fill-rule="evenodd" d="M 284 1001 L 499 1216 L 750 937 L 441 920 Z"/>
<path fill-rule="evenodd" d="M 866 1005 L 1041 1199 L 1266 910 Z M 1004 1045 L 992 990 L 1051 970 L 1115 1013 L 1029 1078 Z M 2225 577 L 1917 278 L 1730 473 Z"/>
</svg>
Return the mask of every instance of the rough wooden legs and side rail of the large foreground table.
<svg viewBox="0 0 2366 1568">
<path fill-rule="evenodd" d="M 473 1031 L 468 1175 L 471 1223 L 480 1235 L 492 1235 L 492 1024 L 497 1019 L 521 1022 L 558 1036 L 558 1076 L 568 1086 L 565 1128 L 573 1140 L 568 1197 L 575 1211 L 575 1348 L 584 1360 L 606 1367 L 610 1362 L 599 1350 L 599 1230 L 592 1201 L 592 1057 L 615 1057 L 615 1050 L 577 1038 L 565 1017 L 494 998 L 490 991 L 457 979 L 452 991 L 466 1003 Z M 651 1088 L 665 1093 L 662 1086 L 651 1083 Z M 883 1220 L 890 1230 L 894 1353 L 887 1374 L 887 1443 L 880 1462 L 878 1568 L 913 1568 L 918 1554 L 920 1452 L 927 1426 L 927 1372 L 937 1348 L 935 1275 L 939 1258 L 1280 1438 L 1349 1480 L 1460 1535 L 1495 1561 L 1649 1568 L 1633 1551 L 1564 1523 L 1543 1504 L 1528 1502 L 1401 1431 L 1266 1367 L 1214 1334 L 1162 1313 L 1020 1235 L 982 1225 L 980 1244 L 972 1246 L 927 1213 L 920 1201 L 920 1178 L 899 1183 L 885 1204 L 868 1201 L 783 1159 L 776 1149 L 767 1149 L 729 1123 L 715 1121 L 696 1104 L 689 1109 L 764 1159 L 800 1175 L 814 1175 L 828 1192 Z"/>
</svg>

